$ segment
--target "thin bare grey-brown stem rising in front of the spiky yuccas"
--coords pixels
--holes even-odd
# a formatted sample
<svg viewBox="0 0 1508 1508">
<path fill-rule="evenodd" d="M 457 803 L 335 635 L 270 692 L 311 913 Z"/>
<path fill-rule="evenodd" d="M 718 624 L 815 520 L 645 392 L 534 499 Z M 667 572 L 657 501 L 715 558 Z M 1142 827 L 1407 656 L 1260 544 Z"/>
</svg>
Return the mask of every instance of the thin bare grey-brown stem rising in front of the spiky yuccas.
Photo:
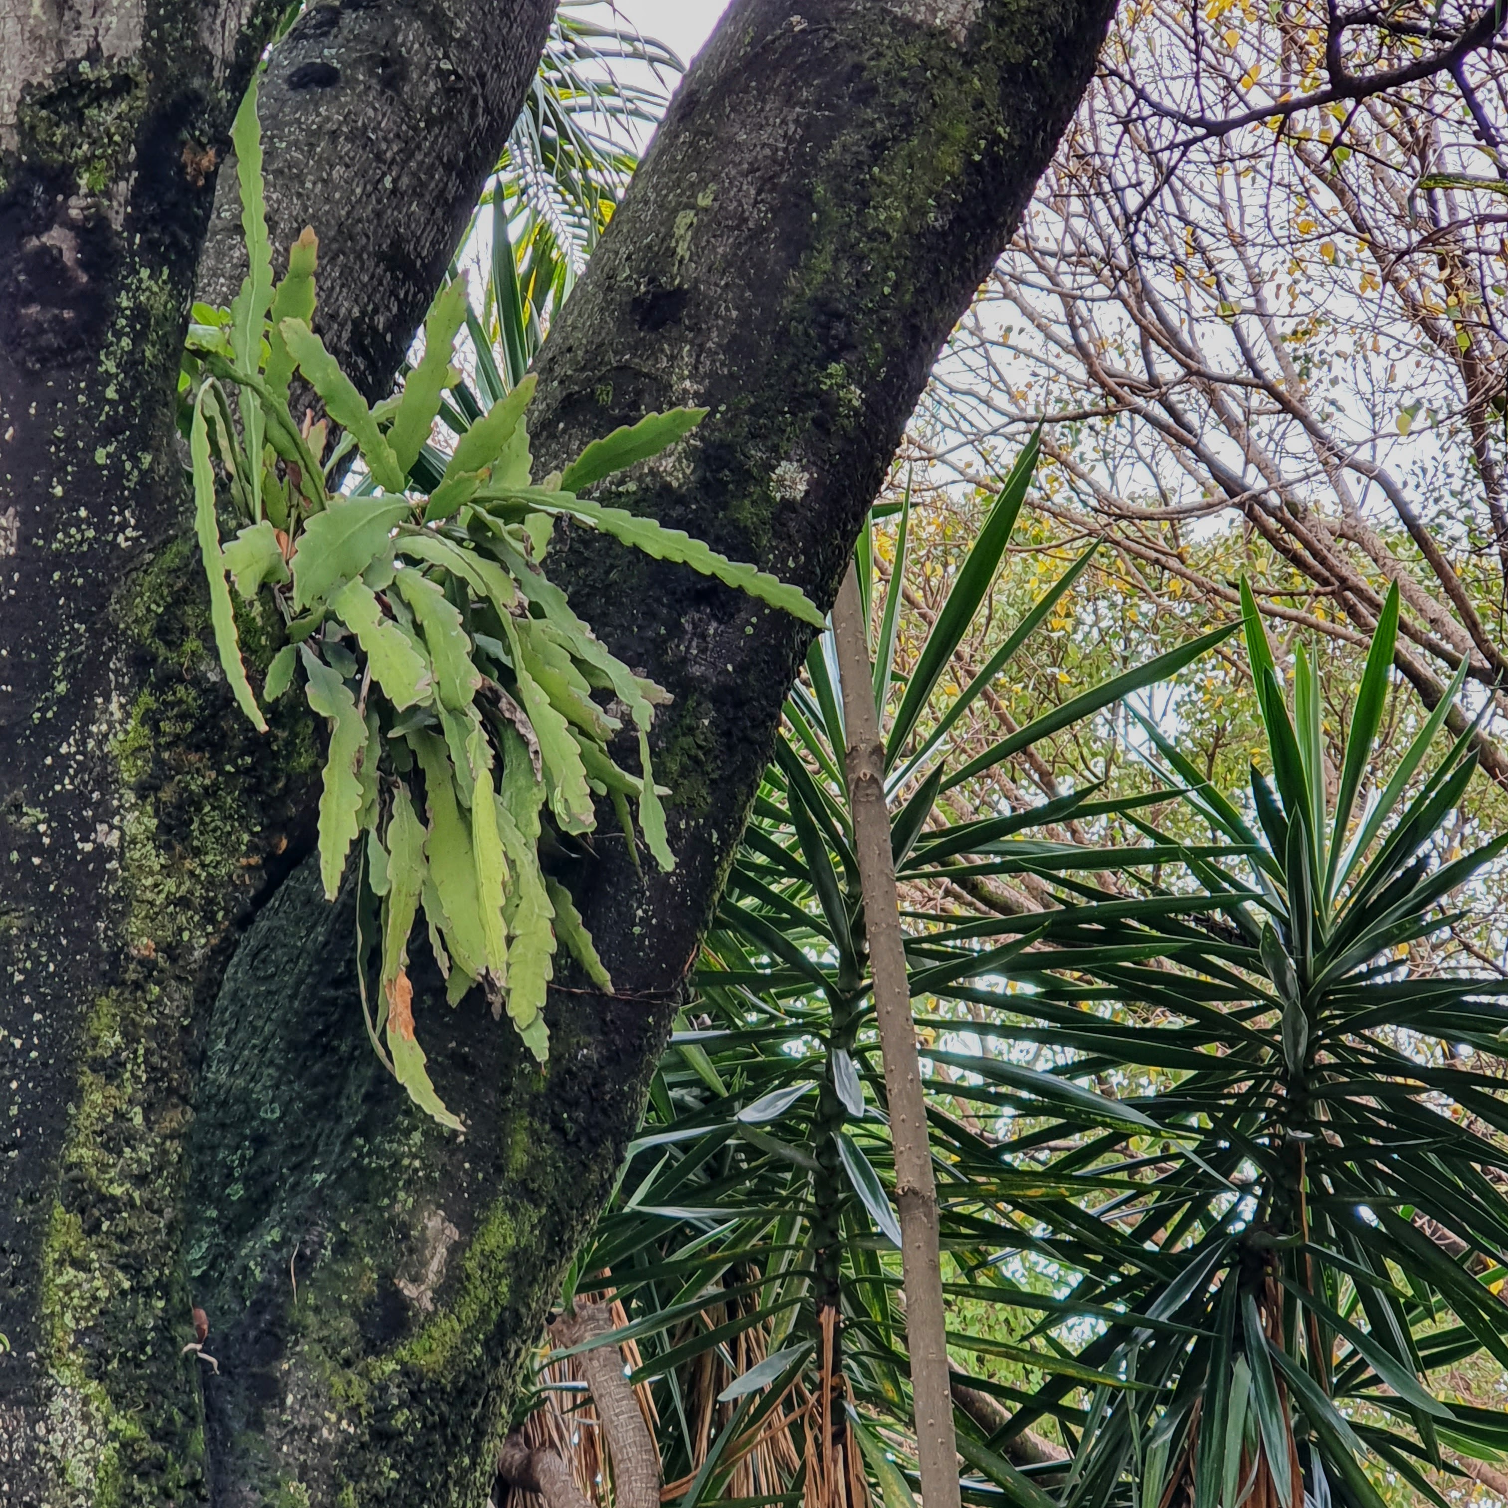
<svg viewBox="0 0 1508 1508">
<path fill-rule="evenodd" d="M 959 1508 L 958 1448 L 949 1383 L 942 1267 L 938 1252 L 938 1196 L 932 1181 L 927 1113 L 911 1022 L 911 985 L 896 902 L 896 869 L 885 810 L 885 749 L 879 737 L 869 633 L 858 578 L 847 575 L 832 608 L 838 671 L 843 679 L 843 725 L 847 737 L 849 807 L 864 888 L 869 961 L 885 1062 L 885 1093 L 896 1149 L 896 1202 L 900 1206 L 900 1264 L 906 1289 L 906 1345 L 915 1402 L 917 1455 L 926 1508 Z"/>
</svg>

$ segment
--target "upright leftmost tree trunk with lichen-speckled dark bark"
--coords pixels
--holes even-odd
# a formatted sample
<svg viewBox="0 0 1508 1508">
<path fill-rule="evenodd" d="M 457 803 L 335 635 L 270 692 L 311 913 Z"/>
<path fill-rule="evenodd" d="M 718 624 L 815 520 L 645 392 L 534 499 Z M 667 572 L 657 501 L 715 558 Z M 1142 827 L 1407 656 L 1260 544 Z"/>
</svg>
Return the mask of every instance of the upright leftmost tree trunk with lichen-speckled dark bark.
<svg viewBox="0 0 1508 1508">
<path fill-rule="evenodd" d="M 216 154 L 274 20 L 0 14 L 6 1503 L 199 1479 L 175 1264 L 192 1025 L 297 831 L 312 740 L 256 743 L 205 651 L 172 392 Z M 264 626 L 246 636 L 255 657 Z"/>
</svg>

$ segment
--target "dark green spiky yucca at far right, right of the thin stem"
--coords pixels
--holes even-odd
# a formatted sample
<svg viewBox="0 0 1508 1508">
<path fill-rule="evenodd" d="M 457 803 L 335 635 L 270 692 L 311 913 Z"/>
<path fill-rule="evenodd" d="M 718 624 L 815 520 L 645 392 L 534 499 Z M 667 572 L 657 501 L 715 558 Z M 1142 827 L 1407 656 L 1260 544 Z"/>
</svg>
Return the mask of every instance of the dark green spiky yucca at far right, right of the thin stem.
<svg viewBox="0 0 1508 1508">
<path fill-rule="evenodd" d="M 1410 949 L 1508 838 L 1442 852 L 1470 736 L 1415 778 L 1449 698 L 1390 777 L 1372 766 L 1396 590 L 1339 772 L 1303 650 L 1289 712 L 1243 600 L 1271 771 L 1252 772 L 1252 820 L 1146 730 L 1250 882 L 1191 854 L 1220 909 L 1200 920 L 1178 894 L 1122 905 L 1075 881 L 1060 911 L 1010 923 L 1033 947 L 994 965 L 1000 983 L 953 989 L 983 1007 L 974 1031 L 1062 1054 L 1033 1078 L 936 1054 L 1018 1128 L 1003 1158 L 1063 1185 L 1000 1202 L 1003 1250 L 970 1292 L 1021 1303 L 1012 1268 L 1034 1264 L 1054 1274 L 1038 1332 L 1099 1332 L 1071 1348 L 1108 1380 L 1012 1399 L 1006 1433 L 1053 1418 L 1071 1446 L 1038 1473 L 1039 1503 L 1381 1508 L 1392 1479 L 1443 1505 L 1430 1467 L 1508 1448 L 1508 1415 L 1430 1386 L 1478 1354 L 1508 1362 L 1508 1105 L 1473 1062 L 1503 1051 L 1508 1012 L 1500 980 L 1415 973 Z"/>
</svg>

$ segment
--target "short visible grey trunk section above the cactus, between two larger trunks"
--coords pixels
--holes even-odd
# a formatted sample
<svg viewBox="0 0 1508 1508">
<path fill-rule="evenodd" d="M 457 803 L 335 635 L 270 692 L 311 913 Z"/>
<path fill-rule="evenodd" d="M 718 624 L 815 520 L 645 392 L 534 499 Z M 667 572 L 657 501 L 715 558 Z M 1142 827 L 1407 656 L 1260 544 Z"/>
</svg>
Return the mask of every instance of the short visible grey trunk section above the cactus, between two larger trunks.
<svg viewBox="0 0 1508 1508">
<path fill-rule="evenodd" d="M 274 258 L 314 226 L 315 326 L 369 401 L 460 246 L 553 14 L 555 0 L 321 0 L 273 50 L 258 104 Z M 244 276 L 232 158 L 198 297 L 228 305 Z"/>
</svg>

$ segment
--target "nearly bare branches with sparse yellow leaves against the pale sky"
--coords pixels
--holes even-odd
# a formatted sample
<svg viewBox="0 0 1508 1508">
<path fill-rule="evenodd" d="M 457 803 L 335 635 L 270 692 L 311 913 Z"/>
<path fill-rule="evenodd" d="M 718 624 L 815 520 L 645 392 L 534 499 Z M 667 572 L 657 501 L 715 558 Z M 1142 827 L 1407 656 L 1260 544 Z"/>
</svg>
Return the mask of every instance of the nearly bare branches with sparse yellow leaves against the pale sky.
<svg viewBox="0 0 1508 1508">
<path fill-rule="evenodd" d="M 1393 692 L 1392 746 L 1463 656 L 1469 706 L 1494 683 L 1508 267 L 1500 33 L 1473 30 L 1487 14 L 1446 9 L 1421 27 L 1404 11 L 1384 24 L 1303 5 L 1117 17 L 912 427 L 926 502 L 912 550 L 941 550 L 914 569 L 918 615 L 977 526 L 994 457 L 1042 418 L 1036 523 L 1019 540 L 1030 569 L 1003 578 L 1001 606 L 1034 590 L 1036 552 L 1066 564 L 1086 540 L 1107 544 L 1077 605 L 977 709 L 979 746 L 997 716 L 1030 716 L 1096 670 L 1224 621 L 1241 575 L 1285 651 L 1306 642 L 1324 667 L 1332 740 L 1393 581 L 1413 695 Z M 1249 688 L 1238 657 L 1214 656 L 1155 703 L 1231 786 L 1262 748 Z M 1490 829 L 1508 810 L 1502 712 L 1481 752 L 1499 789 L 1478 783 L 1463 816 Z M 1108 774 L 1139 789 L 1139 739 L 1126 719 L 1080 727 L 995 778 Z M 1338 742 L 1327 757 L 1338 771 Z M 1497 894 L 1494 873 L 1484 884 Z M 1500 902 L 1440 946 L 1502 965 Z"/>
</svg>

